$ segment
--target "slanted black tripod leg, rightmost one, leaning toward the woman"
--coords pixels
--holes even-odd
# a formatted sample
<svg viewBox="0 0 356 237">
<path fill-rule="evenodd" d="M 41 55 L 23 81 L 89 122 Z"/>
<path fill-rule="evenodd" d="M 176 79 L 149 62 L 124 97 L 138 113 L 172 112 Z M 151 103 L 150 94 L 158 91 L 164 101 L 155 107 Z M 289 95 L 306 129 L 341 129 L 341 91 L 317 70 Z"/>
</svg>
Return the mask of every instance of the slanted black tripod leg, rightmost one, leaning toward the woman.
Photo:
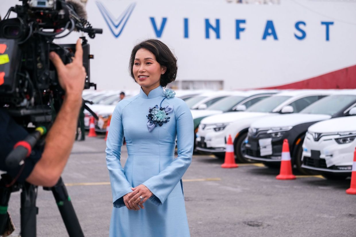
<svg viewBox="0 0 356 237">
<path fill-rule="evenodd" d="M 82 228 L 80 227 L 77 215 L 75 214 L 72 202 L 68 196 L 66 186 L 62 178 L 59 178 L 58 183 L 51 188 L 54 199 L 56 199 L 59 212 L 67 228 L 69 237 L 84 237 Z"/>
</svg>

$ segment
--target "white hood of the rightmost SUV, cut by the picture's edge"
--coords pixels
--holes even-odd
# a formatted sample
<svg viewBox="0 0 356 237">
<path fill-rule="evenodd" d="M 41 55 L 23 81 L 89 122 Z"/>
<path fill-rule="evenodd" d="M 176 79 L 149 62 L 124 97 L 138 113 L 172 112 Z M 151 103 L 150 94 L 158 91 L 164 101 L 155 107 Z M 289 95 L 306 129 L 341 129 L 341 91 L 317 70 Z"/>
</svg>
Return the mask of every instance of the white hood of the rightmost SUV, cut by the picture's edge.
<svg viewBox="0 0 356 237">
<path fill-rule="evenodd" d="M 313 124 L 309 127 L 310 133 L 334 133 L 356 131 L 356 116 L 333 118 Z"/>
</svg>

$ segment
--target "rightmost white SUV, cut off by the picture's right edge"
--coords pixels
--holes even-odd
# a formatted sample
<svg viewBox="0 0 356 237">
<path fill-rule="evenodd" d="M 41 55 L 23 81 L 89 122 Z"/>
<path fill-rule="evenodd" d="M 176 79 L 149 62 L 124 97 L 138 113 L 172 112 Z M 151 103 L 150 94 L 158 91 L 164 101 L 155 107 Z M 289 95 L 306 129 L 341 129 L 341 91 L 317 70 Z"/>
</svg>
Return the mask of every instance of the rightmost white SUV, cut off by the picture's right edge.
<svg viewBox="0 0 356 237">
<path fill-rule="evenodd" d="M 356 107 L 349 111 L 356 115 Z M 356 116 L 333 118 L 310 126 L 303 143 L 302 167 L 328 179 L 351 175 L 356 147 Z"/>
</svg>

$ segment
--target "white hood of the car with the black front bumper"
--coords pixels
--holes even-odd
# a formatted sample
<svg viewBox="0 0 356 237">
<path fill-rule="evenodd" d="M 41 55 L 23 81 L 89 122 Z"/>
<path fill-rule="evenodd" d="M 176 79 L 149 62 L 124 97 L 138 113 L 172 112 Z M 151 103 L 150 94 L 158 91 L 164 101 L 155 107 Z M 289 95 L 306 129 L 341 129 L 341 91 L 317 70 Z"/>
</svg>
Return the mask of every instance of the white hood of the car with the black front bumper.
<svg viewBox="0 0 356 237">
<path fill-rule="evenodd" d="M 317 122 L 331 118 L 326 114 L 285 114 L 257 120 L 251 124 L 253 128 L 293 127 L 301 123 Z"/>
</svg>

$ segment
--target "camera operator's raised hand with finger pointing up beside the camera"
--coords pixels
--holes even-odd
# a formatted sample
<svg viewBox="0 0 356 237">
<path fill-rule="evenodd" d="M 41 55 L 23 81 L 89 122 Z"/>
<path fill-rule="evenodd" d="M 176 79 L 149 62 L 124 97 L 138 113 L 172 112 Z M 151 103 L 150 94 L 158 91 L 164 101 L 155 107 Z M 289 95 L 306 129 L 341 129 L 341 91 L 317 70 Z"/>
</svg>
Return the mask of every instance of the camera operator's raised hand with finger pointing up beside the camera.
<svg viewBox="0 0 356 237">
<path fill-rule="evenodd" d="M 83 67 L 83 49 L 81 40 L 78 39 L 75 46 L 73 62 L 64 65 L 57 53 L 51 52 L 49 58 L 57 69 L 59 84 L 66 91 L 66 96 L 78 96 L 82 98 L 84 82 L 87 73 Z"/>
</svg>

